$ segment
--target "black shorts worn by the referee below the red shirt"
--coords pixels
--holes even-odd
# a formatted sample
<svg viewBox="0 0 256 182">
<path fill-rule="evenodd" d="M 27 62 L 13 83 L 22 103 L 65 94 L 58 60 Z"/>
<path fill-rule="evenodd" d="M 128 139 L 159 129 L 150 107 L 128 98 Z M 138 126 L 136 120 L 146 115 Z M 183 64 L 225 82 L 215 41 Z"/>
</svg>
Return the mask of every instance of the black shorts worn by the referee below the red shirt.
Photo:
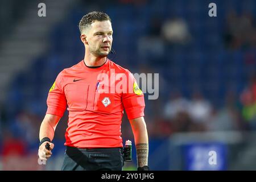
<svg viewBox="0 0 256 182">
<path fill-rule="evenodd" d="M 75 148 L 65 151 L 62 171 L 122 171 L 122 148 Z"/>
</svg>

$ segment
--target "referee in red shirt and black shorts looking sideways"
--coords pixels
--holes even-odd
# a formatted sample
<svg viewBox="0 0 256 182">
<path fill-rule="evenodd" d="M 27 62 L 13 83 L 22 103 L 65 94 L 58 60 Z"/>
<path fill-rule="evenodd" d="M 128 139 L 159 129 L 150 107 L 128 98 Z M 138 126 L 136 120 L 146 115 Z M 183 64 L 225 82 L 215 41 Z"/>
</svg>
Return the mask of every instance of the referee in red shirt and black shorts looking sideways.
<svg viewBox="0 0 256 182">
<path fill-rule="evenodd" d="M 61 71 L 49 90 L 48 108 L 40 126 L 39 158 L 51 157 L 57 123 L 68 107 L 61 169 L 121 171 L 121 122 L 125 109 L 134 134 L 138 170 L 148 170 L 143 93 L 127 69 L 106 57 L 113 42 L 111 19 L 93 11 L 82 17 L 79 29 L 85 46 L 84 60 Z"/>
</svg>

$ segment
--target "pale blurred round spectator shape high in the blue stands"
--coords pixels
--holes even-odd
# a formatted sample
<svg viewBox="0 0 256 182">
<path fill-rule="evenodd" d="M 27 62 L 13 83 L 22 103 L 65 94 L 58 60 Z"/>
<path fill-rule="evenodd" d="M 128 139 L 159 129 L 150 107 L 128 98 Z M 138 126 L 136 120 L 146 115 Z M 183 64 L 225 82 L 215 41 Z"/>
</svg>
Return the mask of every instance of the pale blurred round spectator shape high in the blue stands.
<svg viewBox="0 0 256 182">
<path fill-rule="evenodd" d="M 187 23 L 181 18 L 169 19 L 162 26 L 162 36 L 171 44 L 187 44 L 191 40 L 191 34 Z"/>
</svg>

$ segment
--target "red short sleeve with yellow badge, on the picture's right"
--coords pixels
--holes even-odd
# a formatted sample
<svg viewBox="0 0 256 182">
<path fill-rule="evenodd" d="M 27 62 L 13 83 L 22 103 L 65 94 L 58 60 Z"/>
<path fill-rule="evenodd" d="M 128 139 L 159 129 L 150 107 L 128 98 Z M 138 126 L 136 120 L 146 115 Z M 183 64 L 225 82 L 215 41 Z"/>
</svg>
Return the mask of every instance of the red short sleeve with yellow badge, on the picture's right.
<svg viewBox="0 0 256 182">
<path fill-rule="evenodd" d="M 134 76 L 128 72 L 126 92 L 122 94 L 123 107 L 125 108 L 128 119 L 135 119 L 144 116 L 144 94 L 139 89 L 137 81 Z"/>
</svg>

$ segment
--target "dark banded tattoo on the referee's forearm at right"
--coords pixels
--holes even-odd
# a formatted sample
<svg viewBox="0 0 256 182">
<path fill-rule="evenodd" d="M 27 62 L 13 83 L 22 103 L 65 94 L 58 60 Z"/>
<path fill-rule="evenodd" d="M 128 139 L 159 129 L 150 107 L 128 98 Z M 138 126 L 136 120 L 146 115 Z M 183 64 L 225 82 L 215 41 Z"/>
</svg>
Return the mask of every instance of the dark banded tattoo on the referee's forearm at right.
<svg viewBox="0 0 256 182">
<path fill-rule="evenodd" d="M 138 143 L 136 145 L 138 167 L 147 166 L 148 143 Z"/>
</svg>

